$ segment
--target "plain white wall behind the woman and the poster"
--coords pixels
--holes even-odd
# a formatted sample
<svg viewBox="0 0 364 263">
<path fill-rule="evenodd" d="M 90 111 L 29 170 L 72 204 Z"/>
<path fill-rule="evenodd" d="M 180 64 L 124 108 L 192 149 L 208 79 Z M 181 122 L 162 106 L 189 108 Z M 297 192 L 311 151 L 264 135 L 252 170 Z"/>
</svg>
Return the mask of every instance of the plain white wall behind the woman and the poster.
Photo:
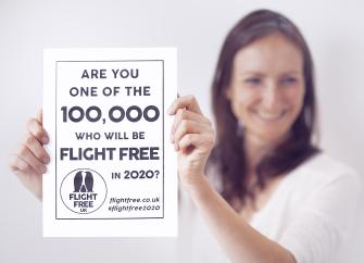
<svg viewBox="0 0 364 263">
<path fill-rule="evenodd" d="M 177 47 L 178 87 L 211 116 L 210 84 L 228 29 L 256 8 L 288 15 L 313 51 L 322 147 L 364 175 L 364 3 L 339 1 L 0 1 L 0 262 L 174 262 L 175 239 L 43 239 L 41 204 L 8 168 L 42 102 L 42 49 Z M 364 218 L 364 217 L 363 217 Z M 364 221 L 363 221 L 364 222 Z M 346 263 L 363 262 L 364 223 Z"/>
</svg>

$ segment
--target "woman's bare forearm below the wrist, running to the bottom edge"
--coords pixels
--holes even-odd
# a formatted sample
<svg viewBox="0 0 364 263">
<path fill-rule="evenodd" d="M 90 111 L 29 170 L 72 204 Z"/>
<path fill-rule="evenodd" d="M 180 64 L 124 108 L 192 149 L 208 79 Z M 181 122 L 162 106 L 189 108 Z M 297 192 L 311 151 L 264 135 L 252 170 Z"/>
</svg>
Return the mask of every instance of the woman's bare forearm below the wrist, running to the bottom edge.
<svg viewBox="0 0 364 263">
<path fill-rule="evenodd" d="M 285 248 L 261 235 L 236 213 L 205 176 L 198 177 L 199 180 L 184 188 L 231 262 L 296 262 Z"/>
</svg>

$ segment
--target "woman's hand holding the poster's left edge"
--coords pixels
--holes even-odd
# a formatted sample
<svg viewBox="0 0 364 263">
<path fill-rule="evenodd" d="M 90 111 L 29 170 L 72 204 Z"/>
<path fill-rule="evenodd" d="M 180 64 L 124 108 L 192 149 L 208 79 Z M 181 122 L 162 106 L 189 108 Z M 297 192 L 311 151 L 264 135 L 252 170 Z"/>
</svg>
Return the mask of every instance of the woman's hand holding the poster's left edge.
<svg viewBox="0 0 364 263">
<path fill-rule="evenodd" d="M 43 145 L 49 142 L 47 132 L 42 127 L 42 111 L 36 118 L 27 122 L 27 132 L 11 156 L 10 167 L 23 185 L 41 200 L 42 174 L 47 172 L 46 164 L 50 162 Z"/>
</svg>

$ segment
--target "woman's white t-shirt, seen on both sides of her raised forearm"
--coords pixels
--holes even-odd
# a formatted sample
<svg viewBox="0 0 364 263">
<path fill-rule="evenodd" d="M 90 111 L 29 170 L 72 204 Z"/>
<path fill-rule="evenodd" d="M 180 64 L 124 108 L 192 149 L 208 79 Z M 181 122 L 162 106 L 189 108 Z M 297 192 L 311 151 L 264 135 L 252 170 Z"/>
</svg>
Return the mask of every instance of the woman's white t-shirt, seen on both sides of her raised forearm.
<svg viewBox="0 0 364 263">
<path fill-rule="evenodd" d="M 356 224 L 362 183 L 353 170 L 318 153 L 279 183 L 250 225 L 298 263 L 332 263 Z M 183 190 L 179 221 L 179 262 L 229 262 Z"/>
</svg>

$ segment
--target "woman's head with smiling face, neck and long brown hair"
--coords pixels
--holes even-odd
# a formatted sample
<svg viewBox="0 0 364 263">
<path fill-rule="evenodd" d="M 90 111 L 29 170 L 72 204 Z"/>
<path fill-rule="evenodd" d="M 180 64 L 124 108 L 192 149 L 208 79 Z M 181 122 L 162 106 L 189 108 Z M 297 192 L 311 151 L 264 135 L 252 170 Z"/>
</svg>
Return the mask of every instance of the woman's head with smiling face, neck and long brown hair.
<svg viewBox="0 0 364 263">
<path fill-rule="evenodd" d="M 212 86 L 217 143 L 210 163 L 236 210 L 319 152 L 313 75 L 303 36 L 281 14 L 253 12 L 226 37 Z"/>
</svg>

